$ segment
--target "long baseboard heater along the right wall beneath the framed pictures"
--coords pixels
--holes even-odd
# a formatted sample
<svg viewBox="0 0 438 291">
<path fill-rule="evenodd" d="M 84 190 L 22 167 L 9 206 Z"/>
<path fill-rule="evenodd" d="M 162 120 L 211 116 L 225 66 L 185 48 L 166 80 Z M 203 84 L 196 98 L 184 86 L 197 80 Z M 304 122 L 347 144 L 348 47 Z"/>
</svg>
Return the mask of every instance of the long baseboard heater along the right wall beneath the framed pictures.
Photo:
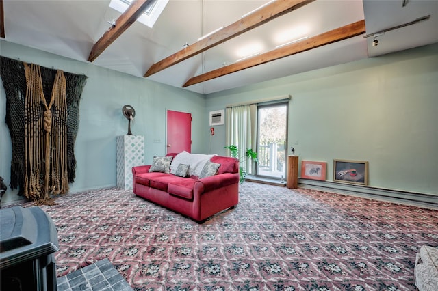
<svg viewBox="0 0 438 291">
<path fill-rule="evenodd" d="M 318 181 L 298 178 L 302 188 L 316 189 L 345 195 L 354 195 L 385 202 L 407 204 L 438 210 L 438 195 L 383 189 L 373 186 L 344 184 L 331 181 Z"/>
</svg>

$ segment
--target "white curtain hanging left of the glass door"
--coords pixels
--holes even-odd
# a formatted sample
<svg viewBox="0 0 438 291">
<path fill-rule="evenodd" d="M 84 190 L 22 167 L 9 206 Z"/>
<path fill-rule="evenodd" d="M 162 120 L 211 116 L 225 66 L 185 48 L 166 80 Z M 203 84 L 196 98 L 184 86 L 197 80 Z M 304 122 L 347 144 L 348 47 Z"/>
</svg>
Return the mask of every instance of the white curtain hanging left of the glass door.
<svg viewBox="0 0 438 291">
<path fill-rule="evenodd" d="M 239 157 L 242 158 L 248 148 L 256 151 L 257 147 L 257 105 L 240 105 L 227 107 L 227 146 L 235 145 L 239 148 Z M 229 150 L 227 154 L 230 155 Z M 246 160 L 240 163 L 248 174 L 255 174 L 255 163 Z"/>
</svg>

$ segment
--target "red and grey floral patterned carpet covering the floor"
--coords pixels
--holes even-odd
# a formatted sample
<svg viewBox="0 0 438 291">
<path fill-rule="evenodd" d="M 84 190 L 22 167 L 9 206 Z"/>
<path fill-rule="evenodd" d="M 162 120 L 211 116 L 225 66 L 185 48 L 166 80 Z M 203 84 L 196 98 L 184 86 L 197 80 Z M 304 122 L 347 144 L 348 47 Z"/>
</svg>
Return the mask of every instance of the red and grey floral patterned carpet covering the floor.
<svg viewBox="0 0 438 291">
<path fill-rule="evenodd" d="M 134 290 L 416 290 L 438 247 L 436 210 L 252 182 L 203 224 L 120 189 L 56 202 L 57 275 L 108 258 Z"/>
</svg>

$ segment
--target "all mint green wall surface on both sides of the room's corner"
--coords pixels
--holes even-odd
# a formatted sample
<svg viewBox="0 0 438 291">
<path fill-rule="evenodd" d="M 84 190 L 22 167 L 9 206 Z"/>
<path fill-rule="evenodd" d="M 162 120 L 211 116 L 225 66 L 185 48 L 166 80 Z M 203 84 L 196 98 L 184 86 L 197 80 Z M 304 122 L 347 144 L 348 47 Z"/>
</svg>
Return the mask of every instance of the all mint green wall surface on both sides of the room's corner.
<svg viewBox="0 0 438 291">
<path fill-rule="evenodd" d="M 75 143 L 77 178 L 70 191 L 116 185 L 121 114 L 136 109 L 131 129 L 144 135 L 146 162 L 166 152 L 166 109 L 192 113 L 192 152 L 224 154 L 225 128 L 209 135 L 208 112 L 225 105 L 290 94 L 289 147 L 302 159 L 370 163 L 370 186 L 438 193 L 438 44 L 203 96 L 0 40 L 0 54 L 86 74 Z M 268 73 L 268 72 L 267 72 Z M 12 154 L 0 86 L 0 176 L 10 182 Z M 296 144 L 298 143 L 298 144 Z M 16 199 L 10 191 L 3 202 Z"/>
</svg>

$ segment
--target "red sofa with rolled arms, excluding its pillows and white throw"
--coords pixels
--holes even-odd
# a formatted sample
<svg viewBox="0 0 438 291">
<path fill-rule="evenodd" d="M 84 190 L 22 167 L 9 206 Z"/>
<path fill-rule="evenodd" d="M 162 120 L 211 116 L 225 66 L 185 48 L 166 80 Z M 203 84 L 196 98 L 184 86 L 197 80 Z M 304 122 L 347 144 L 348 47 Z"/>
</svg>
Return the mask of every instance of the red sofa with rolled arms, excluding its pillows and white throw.
<svg viewBox="0 0 438 291">
<path fill-rule="evenodd" d="M 149 172 L 151 165 L 133 167 L 133 193 L 203 222 L 239 203 L 239 161 L 227 156 L 213 156 L 210 161 L 220 164 L 218 173 L 201 179 Z"/>
</svg>

